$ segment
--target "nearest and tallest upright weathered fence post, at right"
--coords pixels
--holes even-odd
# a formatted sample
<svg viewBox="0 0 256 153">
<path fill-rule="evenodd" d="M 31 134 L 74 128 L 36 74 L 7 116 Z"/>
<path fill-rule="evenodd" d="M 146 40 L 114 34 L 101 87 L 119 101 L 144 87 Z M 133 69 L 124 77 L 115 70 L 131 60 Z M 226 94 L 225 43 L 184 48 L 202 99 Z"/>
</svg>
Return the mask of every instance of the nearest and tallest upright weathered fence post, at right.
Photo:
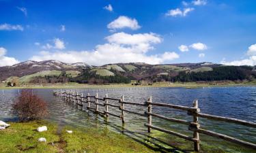
<svg viewBox="0 0 256 153">
<path fill-rule="evenodd" d="M 193 107 L 198 108 L 198 101 L 197 100 L 195 100 L 193 102 Z M 196 131 L 199 128 L 197 113 L 199 113 L 198 110 L 195 112 L 195 114 L 193 114 L 193 122 L 196 125 L 196 126 L 194 126 L 195 131 L 194 131 L 194 134 L 193 134 L 193 138 L 197 139 L 197 141 L 194 141 L 194 150 L 198 152 L 200 146 L 199 146 L 199 133 Z"/>
</svg>

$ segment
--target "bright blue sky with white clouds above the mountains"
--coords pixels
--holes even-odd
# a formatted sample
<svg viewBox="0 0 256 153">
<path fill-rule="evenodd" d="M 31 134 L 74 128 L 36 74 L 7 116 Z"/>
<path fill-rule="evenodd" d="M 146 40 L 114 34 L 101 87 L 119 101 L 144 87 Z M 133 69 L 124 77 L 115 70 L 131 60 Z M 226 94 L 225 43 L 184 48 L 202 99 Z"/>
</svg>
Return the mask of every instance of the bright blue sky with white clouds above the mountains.
<svg viewBox="0 0 256 153">
<path fill-rule="evenodd" d="M 256 65 L 255 0 L 0 0 L 0 66 Z"/>
</svg>

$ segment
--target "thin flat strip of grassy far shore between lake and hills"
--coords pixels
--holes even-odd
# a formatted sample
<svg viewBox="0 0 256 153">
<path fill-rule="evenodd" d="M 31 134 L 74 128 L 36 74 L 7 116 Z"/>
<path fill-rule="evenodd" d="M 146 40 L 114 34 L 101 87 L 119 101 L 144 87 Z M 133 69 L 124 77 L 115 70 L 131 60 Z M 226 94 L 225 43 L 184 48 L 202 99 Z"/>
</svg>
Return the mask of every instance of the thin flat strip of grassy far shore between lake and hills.
<svg viewBox="0 0 256 153">
<path fill-rule="evenodd" d="M 201 88 L 201 87 L 213 87 L 213 86 L 256 86 L 255 81 L 243 81 L 243 82 L 156 82 L 150 86 L 140 85 L 134 86 L 132 84 L 77 84 L 77 83 L 66 83 L 66 84 L 48 84 L 47 86 L 40 86 L 31 84 L 29 86 L 14 86 L 7 87 L 5 84 L 0 84 L 0 89 L 12 89 L 12 88 L 137 88 L 137 87 L 184 87 L 184 88 Z"/>
</svg>

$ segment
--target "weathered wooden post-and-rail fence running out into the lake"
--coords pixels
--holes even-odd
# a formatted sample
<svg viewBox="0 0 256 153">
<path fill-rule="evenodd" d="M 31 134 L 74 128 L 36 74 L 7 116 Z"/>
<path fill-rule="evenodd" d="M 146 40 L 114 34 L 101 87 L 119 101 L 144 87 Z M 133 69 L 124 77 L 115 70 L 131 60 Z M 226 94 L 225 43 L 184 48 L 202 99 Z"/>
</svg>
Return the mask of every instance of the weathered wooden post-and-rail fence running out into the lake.
<svg viewBox="0 0 256 153">
<path fill-rule="evenodd" d="M 152 129 L 155 129 L 155 130 L 161 131 L 163 133 L 169 133 L 170 135 L 175 135 L 182 139 L 192 141 L 194 143 L 195 151 L 199 151 L 199 148 L 200 148 L 199 147 L 199 143 L 200 143 L 199 133 L 203 133 L 205 135 L 210 135 L 212 137 L 217 137 L 218 139 L 224 139 L 226 141 L 230 141 L 233 143 L 237 143 L 241 146 L 245 146 L 246 148 L 252 148 L 253 150 L 256 150 L 255 143 L 242 141 L 240 139 L 236 139 L 234 137 L 229 137 L 229 136 L 223 135 L 221 133 L 216 133 L 214 131 L 208 131 L 206 129 L 201 129 L 200 124 L 199 124 L 199 117 L 207 118 L 210 120 L 231 122 L 231 123 L 240 124 L 240 125 L 253 127 L 253 128 L 256 128 L 255 122 L 238 120 L 236 118 L 226 118 L 226 117 L 221 117 L 221 116 L 212 116 L 209 114 L 202 114 L 202 113 L 200 113 L 200 109 L 198 107 L 197 100 L 193 101 L 193 107 L 186 107 L 186 106 L 182 106 L 182 105 L 172 105 L 169 103 L 154 103 L 154 102 L 152 102 L 152 97 L 147 99 L 147 101 L 145 101 L 144 103 L 134 103 L 134 102 L 124 101 L 124 96 L 122 96 L 120 99 L 111 98 L 111 97 L 108 97 L 108 95 L 105 95 L 105 97 L 103 97 L 103 98 L 99 98 L 98 93 L 96 93 L 95 96 L 89 95 L 89 93 L 86 96 L 83 96 L 83 93 L 75 92 L 72 90 L 55 90 L 55 91 L 53 91 L 53 95 L 59 96 L 64 101 L 71 101 L 72 103 L 74 103 L 76 105 L 80 105 L 82 107 L 85 103 L 87 103 L 87 106 L 86 106 L 87 109 L 95 112 L 96 114 L 100 114 L 106 118 L 109 118 L 109 115 L 115 116 L 117 118 L 120 118 L 123 123 L 125 122 L 125 113 L 124 112 L 136 114 L 138 116 L 143 116 L 143 117 L 147 118 L 147 123 L 145 123 L 144 125 L 147 126 L 148 133 L 150 133 Z M 94 100 L 91 100 L 91 99 L 94 99 Z M 119 103 L 119 105 L 114 105 L 113 103 L 109 103 L 109 100 L 117 101 Z M 100 101 L 102 101 L 102 103 L 100 103 Z M 96 107 L 91 107 L 91 103 L 94 103 L 94 105 Z M 147 107 L 147 111 L 145 111 L 144 113 L 134 112 L 134 111 L 126 108 L 125 104 L 126 105 L 145 106 L 145 107 Z M 104 107 L 104 112 L 99 111 L 99 106 Z M 114 114 L 113 112 L 109 112 L 109 106 L 118 108 L 119 110 L 121 110 L 121 114 Z M 180 109 L 182 111 L 186 111 L 189 116 L 193 116 L 193 120 L 188 121 L 188 120 L 182 120 L 182 119 L 177 119 L 177 118 L 168 118 L 168 117 L 162 116 L 160 114 L 155 114 L 154 112 L 152 112 L 152 106 L 169 107 L 169 108 L 173 108 L 173 109 Z M 177 133 L 175 131 L 162 129 L 158 126 L 154 126 L 152 124 L 152 116 L 154 116 L 156 118 L 163 119 L 163 120 L 168 120 L 171 122 L 177 122 L 180 124 L 188 125 L 188 130 L 193 131 L 193 137 L 184 135 L 182 133 Z"/>
</svg>

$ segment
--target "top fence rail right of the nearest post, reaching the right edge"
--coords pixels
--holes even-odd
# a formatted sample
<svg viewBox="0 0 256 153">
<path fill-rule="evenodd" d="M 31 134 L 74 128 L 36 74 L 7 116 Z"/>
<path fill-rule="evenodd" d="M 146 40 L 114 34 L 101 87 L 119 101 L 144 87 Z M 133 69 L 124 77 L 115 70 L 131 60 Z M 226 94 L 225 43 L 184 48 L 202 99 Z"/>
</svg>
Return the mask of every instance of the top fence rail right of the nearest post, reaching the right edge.
<svg viewBox="0 0 256 153">
<path fill-rule="evenodd" d="M 221 121 L 225 121 L 225 122 L 232 122 L 232 123 L 241 124 L 241 125 L 244 125 L 244 126 L 250 126 L 250 127 L 256 128 L 256 123 L 255 122 L 248 122 L 248 121 L 245 121 L 245 120 L 238 120 L 236 118 L 226 118 L 226 117 L 213 116 L 213 115 L 201 114 L 201 113 L 198 113 L 196 115 L 198 117 L 201 117 L 201 118 L 208 118 L 208 119 L 212 119 L 212 120 L 221 120 Z"/>
</svg>

